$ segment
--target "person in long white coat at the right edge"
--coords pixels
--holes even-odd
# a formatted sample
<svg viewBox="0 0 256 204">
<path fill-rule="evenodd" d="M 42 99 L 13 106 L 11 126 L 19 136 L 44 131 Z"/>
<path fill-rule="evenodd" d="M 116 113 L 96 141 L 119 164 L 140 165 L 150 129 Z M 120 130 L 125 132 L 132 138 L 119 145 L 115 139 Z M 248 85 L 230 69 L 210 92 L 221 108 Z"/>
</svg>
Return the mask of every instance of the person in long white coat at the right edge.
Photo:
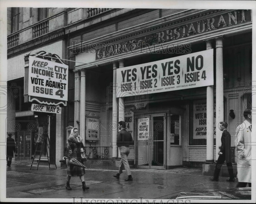
<svg viewBox="0 0 256 204">
<path fill-rule="evenodd" d="M 237 188 L 246 187 L 247 183 L 251 187 L 251 133 L 252 133 L 252 111 L 246 109 L 243 112 L 245 120 L 242 123 L 242 128 L 238 130 L 237 135 Z"/>
</svg>

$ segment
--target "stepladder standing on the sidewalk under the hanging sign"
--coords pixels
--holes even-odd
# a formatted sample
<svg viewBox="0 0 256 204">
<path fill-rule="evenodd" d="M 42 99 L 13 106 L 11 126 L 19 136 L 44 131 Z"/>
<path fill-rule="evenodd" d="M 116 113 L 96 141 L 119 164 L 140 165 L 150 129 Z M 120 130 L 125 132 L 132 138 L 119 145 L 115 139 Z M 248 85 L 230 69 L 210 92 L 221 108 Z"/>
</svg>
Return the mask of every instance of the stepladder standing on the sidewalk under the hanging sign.
<svg viewBox="0 0 256 204">
<path fill-rule="evenodd" d="M 31 162 L 31 165 L 30 165 L 30 170 L 31 170 L 32 165 L 33 165 L 35 160 L 38 160 L 37 168 L 36 168 L 36 170 L 38 170 L 38 166 L 40 164 L 41 156 L 42 156 L 42 153 L 43 153 L 43 150 L 44 150 L 45 146 L 46 146 L 47 161 L 48 161 L 48 165 L 49 165 L 49 169 L 50 169 L 50 157 L 49 157 L 48 151 L 47 151 L 47 150 L 50 149 L 49 144 L 50 144 L 49 136 L 48 136 L 47 133 L 44 132 L 44 140 L 43 140 L 43 142 L 42 143 L 36 143 L 36 150 L 35 150 L 35 154 L 34 154 L 32 162 Z M 40 145 L 41 145 L 41 148 L 40 148 Z M 55 167 L 57 169 L 56 163 L 55 163 Z"/>
</svg>

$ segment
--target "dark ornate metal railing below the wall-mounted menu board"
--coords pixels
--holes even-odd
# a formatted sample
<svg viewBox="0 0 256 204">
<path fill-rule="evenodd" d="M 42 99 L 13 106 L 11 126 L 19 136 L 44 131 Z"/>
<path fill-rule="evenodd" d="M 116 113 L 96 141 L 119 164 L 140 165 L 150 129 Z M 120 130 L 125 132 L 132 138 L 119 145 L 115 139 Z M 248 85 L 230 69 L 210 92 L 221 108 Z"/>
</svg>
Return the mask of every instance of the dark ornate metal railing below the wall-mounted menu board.
<svg viewBox="0 0 256 204">
<path fill-rule="evenodd" d="M 87 159 L 109 161 L 111 147 L 84 147 Z"/>
</svg>

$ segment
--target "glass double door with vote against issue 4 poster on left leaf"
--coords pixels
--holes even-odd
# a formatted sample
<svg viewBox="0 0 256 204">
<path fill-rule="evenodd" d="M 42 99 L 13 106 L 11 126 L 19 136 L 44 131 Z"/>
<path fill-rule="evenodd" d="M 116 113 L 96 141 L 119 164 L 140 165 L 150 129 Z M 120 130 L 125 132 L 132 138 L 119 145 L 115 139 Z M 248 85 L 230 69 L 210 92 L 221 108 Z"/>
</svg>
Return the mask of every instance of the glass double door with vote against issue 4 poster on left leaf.
<svg viewBox="0 0 256 204">
<path fill-rule="evenodd" d="M 166 121 L 165 114 L 137 118 L 138 168 L 165 169 Z"/>
</svg>

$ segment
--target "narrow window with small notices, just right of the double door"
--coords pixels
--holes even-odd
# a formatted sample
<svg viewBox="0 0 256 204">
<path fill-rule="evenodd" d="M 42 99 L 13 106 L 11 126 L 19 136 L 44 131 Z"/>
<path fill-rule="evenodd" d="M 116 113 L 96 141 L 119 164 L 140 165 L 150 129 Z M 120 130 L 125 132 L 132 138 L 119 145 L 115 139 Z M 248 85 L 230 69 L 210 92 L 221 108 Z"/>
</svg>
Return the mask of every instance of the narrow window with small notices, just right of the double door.
<svg viewBox="0 0 256 204">
<path fill-rule="evenodd" d="M 180 115 L 170 115 L 170 145 L 180 145 Z"/>
</svg>

